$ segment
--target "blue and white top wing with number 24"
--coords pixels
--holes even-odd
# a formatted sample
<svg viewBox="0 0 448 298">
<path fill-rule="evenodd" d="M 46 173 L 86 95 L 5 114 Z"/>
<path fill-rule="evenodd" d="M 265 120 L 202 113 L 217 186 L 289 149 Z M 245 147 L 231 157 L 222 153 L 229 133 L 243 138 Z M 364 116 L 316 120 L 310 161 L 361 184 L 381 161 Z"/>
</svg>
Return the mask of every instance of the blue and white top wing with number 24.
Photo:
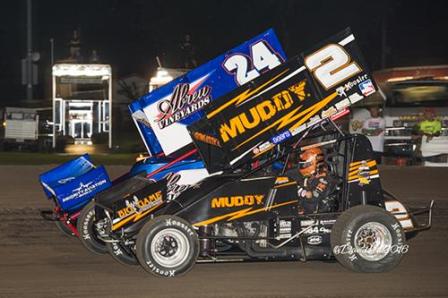
<svg viewBox="0 0 448 298">
<path fill-rule="evenodd" d="M 149 153 L 176 155 L 194 147 L 186 126 L 203 116 L 206 105 L 285 58 L 270 29 L 131 103 L 132 118 Z"/>
</svg>

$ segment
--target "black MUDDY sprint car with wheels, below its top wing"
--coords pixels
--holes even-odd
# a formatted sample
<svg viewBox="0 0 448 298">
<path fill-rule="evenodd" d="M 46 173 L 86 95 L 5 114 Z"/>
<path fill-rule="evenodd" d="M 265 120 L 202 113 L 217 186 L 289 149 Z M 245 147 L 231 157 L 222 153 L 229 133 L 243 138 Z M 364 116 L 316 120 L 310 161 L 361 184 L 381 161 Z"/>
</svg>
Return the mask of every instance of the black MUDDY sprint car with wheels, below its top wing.
<svg viewBox="0 0 448 298">
<path fill-rule="evenodd" d="M 99 197 L 96 228 L 128 264 L 164 277 L 182 275 L 196 262 L 245 260 L 336 258 L 358 272 L 393 269 L 406 240 L 431 227 L 433 202 L 410 210 L 384 191 L 364 136 L 341 135 L 287 156 L 310 146 L 325 148 L 339 178 L 317 212 L 299 214 L 296 169 L 266 171 L 270 160 L 249 173 L 207 177 L 171 201 L 164 181 L 140 188 L 132 200 Z M 423 213 L 429 216 L 419 225 L 416 215 Z"/>
</svg>

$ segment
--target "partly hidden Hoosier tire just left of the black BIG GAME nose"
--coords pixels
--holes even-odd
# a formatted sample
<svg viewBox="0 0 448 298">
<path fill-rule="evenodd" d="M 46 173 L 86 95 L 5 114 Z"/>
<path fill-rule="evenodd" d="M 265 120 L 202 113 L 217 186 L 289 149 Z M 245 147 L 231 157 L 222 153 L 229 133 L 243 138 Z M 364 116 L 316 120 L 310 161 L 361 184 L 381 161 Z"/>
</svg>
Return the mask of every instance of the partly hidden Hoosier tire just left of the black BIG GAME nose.
<svg viewBox="0 0 448 298">
<path fill-rule="evenodd" d="M 93 226 L 94 222 L 95 204 L 94 202 L 90 202 L 84 206 L 78 217 L 77 228 L 79 232 L 79 239 L 84 247 L 89 251 L 102 255 L 107 253 L 107 247 L 106 244 L 98 238 Z"/>
</svg>

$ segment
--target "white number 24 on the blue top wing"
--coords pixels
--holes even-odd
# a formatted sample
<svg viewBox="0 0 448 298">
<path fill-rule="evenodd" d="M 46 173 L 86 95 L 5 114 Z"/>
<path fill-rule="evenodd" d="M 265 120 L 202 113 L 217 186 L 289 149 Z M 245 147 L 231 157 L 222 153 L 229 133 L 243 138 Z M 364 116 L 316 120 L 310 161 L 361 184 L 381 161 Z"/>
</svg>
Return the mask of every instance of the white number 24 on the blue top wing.
<svg viewBox="0 0 448 298">
<path fill-rule="evenodd" d="M 224 61 L 223 67 L 227 72 L 235 74 L 238 85 L 252 81 L 265 69 L 273 69 L 282 61 L 272 49 L 261 40 L 250 47 L 251 57 L 235 54 Z M 253 65 L 253 67 L 251 67 Z"/>
</svg>

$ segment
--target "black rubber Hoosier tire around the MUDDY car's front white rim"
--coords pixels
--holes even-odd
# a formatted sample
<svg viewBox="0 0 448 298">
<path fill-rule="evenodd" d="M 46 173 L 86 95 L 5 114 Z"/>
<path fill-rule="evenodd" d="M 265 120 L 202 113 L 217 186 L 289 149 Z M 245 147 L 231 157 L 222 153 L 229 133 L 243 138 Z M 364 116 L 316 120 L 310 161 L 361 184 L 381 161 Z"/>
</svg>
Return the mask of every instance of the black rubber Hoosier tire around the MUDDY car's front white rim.
<svg viewBox="0 0 448 298">
<path fill-rule="evenodd" d="M 189 244 L 187 258 L 177 267 L 166 268 L 160 265 L 150 252 L 154 237 L 165 229 L 176 229 L 182 232 Z M 174 277 L 185 274 L 194 266 L 199 254 L 199 240 L 196 231 L 185 220 L 176 216 L 160 216 L 146 223 L 138 235 L 136 247 L 140 265 L 146 271 L 159 277 Z"/>
</svg>

